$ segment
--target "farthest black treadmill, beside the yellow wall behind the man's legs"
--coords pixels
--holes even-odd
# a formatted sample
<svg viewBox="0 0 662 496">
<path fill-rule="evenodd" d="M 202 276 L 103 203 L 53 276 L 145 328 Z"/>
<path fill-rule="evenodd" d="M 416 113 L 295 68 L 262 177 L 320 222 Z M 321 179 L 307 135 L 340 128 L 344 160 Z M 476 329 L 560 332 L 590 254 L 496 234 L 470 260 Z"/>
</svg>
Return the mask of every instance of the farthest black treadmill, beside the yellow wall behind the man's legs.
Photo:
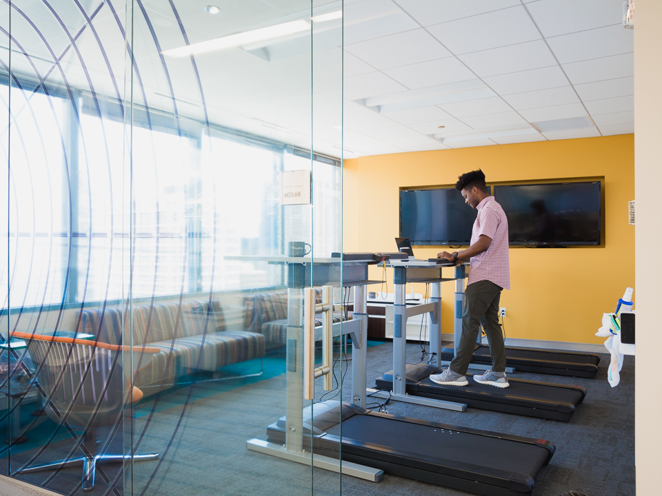
<svg viewBox="0 0 662 496">
<path fill-rule="evenodd" d="M 441 351 L 440 360 L 450 362 L 454 355 L 452 347 L 444 348 Z M 598 372 L 599 362 L 600 355 L 596 353 L 505 347 L 506 366 L 512 366 L 521 372 L 592 379 Z M 490 348 L 485 344 L 477 344 L 471 363 L 492 365 Z"/>
</svg>

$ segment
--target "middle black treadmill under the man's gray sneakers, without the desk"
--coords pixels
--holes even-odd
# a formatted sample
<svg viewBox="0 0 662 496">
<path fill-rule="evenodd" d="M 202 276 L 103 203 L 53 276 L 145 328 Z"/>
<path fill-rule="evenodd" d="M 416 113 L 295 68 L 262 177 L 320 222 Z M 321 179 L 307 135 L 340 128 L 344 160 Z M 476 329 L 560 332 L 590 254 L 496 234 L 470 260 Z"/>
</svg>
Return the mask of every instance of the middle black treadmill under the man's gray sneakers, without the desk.
<svg viewBox="0 0 662 496">
<path fill-rule="evenodd" d="M 441 369 L 422 362 L 407 364 L 408 395 L 464 403 L 470 408 L 562 422 L 570 421 L 576 406 L 586 395 L 586 390 L 580 386 L 548 384 L 510 377 L 508 378 L 510 387 L 502 389 L 489 384 L 479 384 L 472 379 L 470 373 L 467 374 L 468 386 L 450 386 L 432 382 L 429 376 L 434 373 L 441 373 Z M 388 371 L 375 382 L 375 389 L 390 391 L 393 388 L 393 371 Z"/>
</svg>

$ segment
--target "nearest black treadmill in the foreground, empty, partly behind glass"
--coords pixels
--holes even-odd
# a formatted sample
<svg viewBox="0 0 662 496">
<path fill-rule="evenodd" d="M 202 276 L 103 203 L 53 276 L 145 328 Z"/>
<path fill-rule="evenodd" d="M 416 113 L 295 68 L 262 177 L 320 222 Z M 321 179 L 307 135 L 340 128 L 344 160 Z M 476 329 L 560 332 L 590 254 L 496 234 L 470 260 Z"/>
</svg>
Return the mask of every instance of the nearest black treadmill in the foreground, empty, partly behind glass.
<svg viewBox="0 0 662 496">
<path fill-rule="evenodd" d="M 385 473 L 484 496 L 528 496 L 554 455 L 545 440 L 479 431 L 361 409 L 334 400 L 304 410 L 303 437 L 315 453 Z M 312 421 L 312 424 L 311 424 Z M 267 428 L 283 444 L 285 417 Z"/>
</svg>

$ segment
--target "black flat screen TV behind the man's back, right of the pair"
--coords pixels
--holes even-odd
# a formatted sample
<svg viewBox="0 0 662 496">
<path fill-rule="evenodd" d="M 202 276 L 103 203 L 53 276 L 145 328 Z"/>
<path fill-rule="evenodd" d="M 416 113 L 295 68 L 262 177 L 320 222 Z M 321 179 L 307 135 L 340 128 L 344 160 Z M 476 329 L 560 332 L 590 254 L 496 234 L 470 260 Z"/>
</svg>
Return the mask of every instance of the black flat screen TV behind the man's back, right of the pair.
<svg viewBox="0 0 662 496">
<path fill-rule="evenodd" d="M 601 184 L 494 186 L 510 245 L 600 245 Z"/>
</svg>

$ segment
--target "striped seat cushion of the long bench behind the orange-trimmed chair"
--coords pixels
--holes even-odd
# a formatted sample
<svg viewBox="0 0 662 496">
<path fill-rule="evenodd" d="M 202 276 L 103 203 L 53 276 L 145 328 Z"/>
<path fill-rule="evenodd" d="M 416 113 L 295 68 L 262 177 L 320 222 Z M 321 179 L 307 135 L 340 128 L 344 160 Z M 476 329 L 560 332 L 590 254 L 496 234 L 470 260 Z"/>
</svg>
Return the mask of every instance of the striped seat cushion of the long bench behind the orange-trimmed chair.
<svg viewBox="0 0 662 496">
<path fill-rule="evenodd" d="M 244 331 L 194 335 L 150 346 L 161 348 L 161 353 L 154 353 L 152 362 L 136 373 L 137 387 L 173 384 L 176 377 L 193 371 L 215 371 L 264 355 L 263 335 Z"/>
</svg>

